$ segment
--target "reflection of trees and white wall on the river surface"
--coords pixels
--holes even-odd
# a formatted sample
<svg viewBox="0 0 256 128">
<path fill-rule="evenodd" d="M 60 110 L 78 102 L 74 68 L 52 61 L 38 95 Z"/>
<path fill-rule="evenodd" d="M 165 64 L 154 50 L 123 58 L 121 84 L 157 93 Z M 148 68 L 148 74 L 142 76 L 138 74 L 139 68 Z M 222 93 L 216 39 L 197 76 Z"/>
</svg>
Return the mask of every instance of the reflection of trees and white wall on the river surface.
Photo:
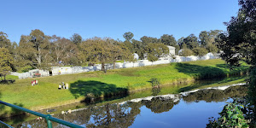
<svg viewBox="0 0 256 128">
<path fill-rule="evenodd" d="M 157 90 L 158 92 L 160 90 Z M 102 106 L 89 106 L 87 108 L 79 108 L 72 110 L 72 113 L 61 114 L 56 113 L 53 116 L 64 119 L 74 124 L 86 127 L 129 127 L 133 125 L 137 116 L 145 112 L 144 108 L 148 108 L 154 114 L 163 112 L 175 113 L 175 106 L 180 101 L 184 103 L 191 102 L 225 102 L 229 98 L 245 96 L 247 88 L 245 86 L 233 86 L 226 90 L 199 90 L 189 93 L 187 96 L 180 94 L 165 96 L 149 96 L 145 98 L 134 99 L 129 102 L 105 104 Z M 183 100 L 181 100 L 183 99 Z M 222 109 L 222 108 L 220 108 Z M 197 118 L 197 117 L 195 117 Z M 23 122 L 15 127 L 47 127 L 43 120 L 32 119 Z M 53 123 L 54 127 L 65 127 Z"/>
</svg>

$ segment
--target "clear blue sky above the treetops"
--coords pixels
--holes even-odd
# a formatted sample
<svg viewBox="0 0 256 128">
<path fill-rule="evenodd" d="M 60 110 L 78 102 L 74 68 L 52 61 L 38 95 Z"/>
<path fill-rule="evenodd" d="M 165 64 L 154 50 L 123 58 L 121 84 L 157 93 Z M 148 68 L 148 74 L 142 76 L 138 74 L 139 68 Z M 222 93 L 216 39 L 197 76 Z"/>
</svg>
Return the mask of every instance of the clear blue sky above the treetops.
<svg viewBox="0 0 256 128">
<path fill-rule="evenodd" d="M 46 35 L 84 39 L 109 37 L 176 39 L 201 31 L 226 30 L 224 21 L 236 16 L 238 0 L 5 0 L 1 2 L 0 32 L 19 43 L 20 36 L 40 29 Z"/>
</svg>

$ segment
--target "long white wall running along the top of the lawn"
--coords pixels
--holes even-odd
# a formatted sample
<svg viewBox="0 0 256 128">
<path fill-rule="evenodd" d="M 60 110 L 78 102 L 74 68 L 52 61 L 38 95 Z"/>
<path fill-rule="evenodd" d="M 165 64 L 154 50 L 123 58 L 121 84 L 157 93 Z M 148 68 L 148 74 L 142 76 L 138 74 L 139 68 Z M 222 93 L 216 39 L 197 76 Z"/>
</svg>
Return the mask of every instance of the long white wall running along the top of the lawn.
<svg viewBox="0 0 256 128">
<path fill-rule="evenodd" d="M 170 46 L 171 48 L 172 46 Z M 174 48 L 174 47 L 173 47 Z M 173 49 L 175 52 L 175 49 Z M 173 51 L 171 51 L 173 53 Z M 144 67 L 144 66 L 152 66 L 152 65 L 159 65 L 159 64 L 168 64 L 171 62 L 182 62 L 182 61 L 199 61 L 199 60 L 209 60 L 209 59 L 217 59 L 219 58 L 217 54 L 208 53 L 201 57 L 199 56 L 169 56 L 169 57 L 161 57 L 158 61 L 148 61 L 148 60 L 139 60 L 136 62 L 125 61 L 125 62 L 116 62 L 115 68 L 129 68 L 129 67 Z M 107 69 L 113 69 L 113 64 L 106 64 L 105 66 Z M 61 74 L 69 74 L 69 73 L 84 73 L 84 72 L 94 72 L 100 71 L 102 69 L 101 64 L 96 64 L 95 66 L 90 67 L 52 67 L 52 70 L 44 71 L 39 69 L 30 70 L 27 73 L 11 73 L 12 75 L 18 76 L 19 79 L 26 79 L 35 77 L 35 73 L 40 73 L 41 76 L 49 76 L 49 75 L 61 75 Z"/>
</svg>

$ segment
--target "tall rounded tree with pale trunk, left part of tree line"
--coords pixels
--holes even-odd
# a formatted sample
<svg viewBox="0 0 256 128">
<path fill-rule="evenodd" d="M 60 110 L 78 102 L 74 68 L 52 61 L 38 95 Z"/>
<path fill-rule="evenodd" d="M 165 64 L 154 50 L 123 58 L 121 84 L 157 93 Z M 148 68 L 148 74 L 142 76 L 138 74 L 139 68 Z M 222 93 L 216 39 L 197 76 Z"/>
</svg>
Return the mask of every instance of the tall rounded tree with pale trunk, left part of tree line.
<svg viewBox="0 0 256 128">
<path fill-rule="evenodd" d="M 20 37 L 19 53 L 22 59 L 29 61 L 32 67 L 49 69 L 52 57 L 50 56 L 50 37 L 44 32 L 35 29 L 30 35 Z"/>
</svg>

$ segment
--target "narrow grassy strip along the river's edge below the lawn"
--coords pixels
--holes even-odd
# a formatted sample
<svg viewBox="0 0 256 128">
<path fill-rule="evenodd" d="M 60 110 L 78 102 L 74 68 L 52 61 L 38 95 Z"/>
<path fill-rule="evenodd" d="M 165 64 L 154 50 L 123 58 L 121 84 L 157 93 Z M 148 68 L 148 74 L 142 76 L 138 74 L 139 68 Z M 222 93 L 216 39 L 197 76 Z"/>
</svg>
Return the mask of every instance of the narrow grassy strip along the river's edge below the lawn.
<svg viewBox="0 0 256 128">
<path fill-rule="evenodd" d="M 234 80 L 234 79 L 236 79 L 236 80 Z M 245 80 L 245 77 L 236 77 L 236 78 L 226 78 L 226 79 L 195 81 L 190 84 L 177 84 L 177 85 L 172 85 L 172 86 L 163 86 L 160 89 L 157 89 L 156 91 L 154 90 L 155 89 L 154 88 L 153 90 L 143 90 L 143 91 L 139 91 L 136 93 L 131 93 L 129 96 L 125 96 L 125 97 L 119 96 L 119 98 L 115 97 L 114 99 L 113 98 L 98 99 L 96 102 L 93 102 L 92 105 L 93 106 L 102 106 L 102 105 L 113 104 L 113 103 L 117 103 L 117 102 L 125 102 L 125 101 L 129 101 L 129 100 L 136 99 L 136 98 L 143 98 L 143 97 L 147 97 L 147 96 L 178 94 L 178 93 L 182 92 L 184 89 L 196 90 L 196 89 L 202 89 L 202 88 L 207 88 L 207 87 L 244 83 L 245 82 L 244 80 Z M 188 91 L 188 90 L 186 90 L 186 91 Z M 58 113 L 61 113 L 61 111 L 66 112 L 69 109 L 73 110 L 73 109 L 78 109 L 78 108 L 87 108 L 90 105 L 91 104 L 88 102 L 76 102 L 76 103 L 68 104 L 65 106 L 50 108 L 50 109 L 55 109 L 56 111 L 52 112 L 52 113 L 58 114 Z M 46 113 L 45 109 L 41 110 L 39 112 L 49 114 L 49 113 Z M 37 118 L 37 117 L 32 116 L 32 115 L 18 116 L 18 117 L 13 117 L 13 118 L 9 118 L 9 119 L 3 119 L 2 121 L 4 121 L 5 123 L 7 123 L 9 125 L 14 125 L 14 124 L 20 124 L 23 121 L 32 120 L 35 118 Z"/>
</svg>

